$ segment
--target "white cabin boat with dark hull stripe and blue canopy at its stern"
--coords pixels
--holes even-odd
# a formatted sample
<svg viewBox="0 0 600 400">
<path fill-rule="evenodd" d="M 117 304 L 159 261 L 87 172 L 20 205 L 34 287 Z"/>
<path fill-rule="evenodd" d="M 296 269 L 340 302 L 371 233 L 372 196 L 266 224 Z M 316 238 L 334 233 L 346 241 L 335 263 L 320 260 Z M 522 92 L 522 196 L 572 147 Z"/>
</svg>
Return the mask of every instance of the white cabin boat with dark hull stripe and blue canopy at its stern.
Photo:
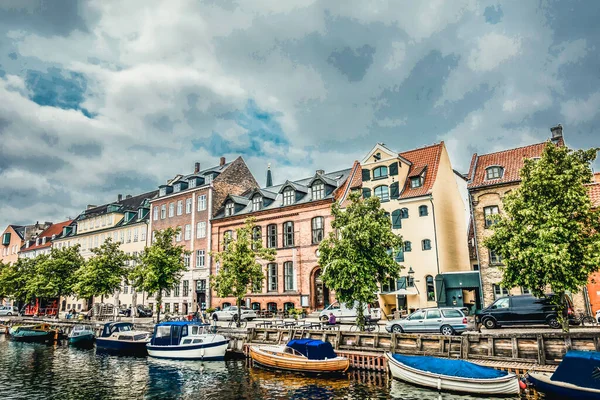
<svg viewBox="0 0 600 400">
<path fill-rule="evenodd" d="M 190 321 L 161 322 L 146 345 L 148 355 L 181 360 L 222 360 L 229 339 L 208 332 L 208 326 Z"/>
</svg>

